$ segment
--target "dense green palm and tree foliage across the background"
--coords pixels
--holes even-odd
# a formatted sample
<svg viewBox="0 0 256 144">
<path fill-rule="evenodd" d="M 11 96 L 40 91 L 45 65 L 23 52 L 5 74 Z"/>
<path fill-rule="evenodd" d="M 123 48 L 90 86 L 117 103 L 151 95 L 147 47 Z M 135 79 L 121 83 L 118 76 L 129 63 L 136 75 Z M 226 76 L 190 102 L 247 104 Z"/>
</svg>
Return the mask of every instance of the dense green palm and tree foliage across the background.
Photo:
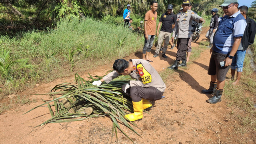
<svg viewBox="0 0 256 144">
<path fill-rule="evenodd" d="M 144 16 L 150 10 L 152 0 L 0 0 L 0 11 L 10 14 L 11 17 L 26 19 L 22 14 L 22 8 L 33 7 L 36 11 L 31 18 L 34 23 L 38 19 L 50 20 L 55 23 L 62 18 L 78 18 L 92 16 L 102 18 L 104 16 L 122 15 L 127 4 L 131 5 L 132 14 Z M 176 14 L 182 4 L 182 0 L 157 0 L 158 14 L 166 11 L 168 4 L 174 6 Z M 223 0 L 191 0 L 192 10 L 199 15 L 209 14 L 212 8 L 218 8 Z"/>
</svg>

